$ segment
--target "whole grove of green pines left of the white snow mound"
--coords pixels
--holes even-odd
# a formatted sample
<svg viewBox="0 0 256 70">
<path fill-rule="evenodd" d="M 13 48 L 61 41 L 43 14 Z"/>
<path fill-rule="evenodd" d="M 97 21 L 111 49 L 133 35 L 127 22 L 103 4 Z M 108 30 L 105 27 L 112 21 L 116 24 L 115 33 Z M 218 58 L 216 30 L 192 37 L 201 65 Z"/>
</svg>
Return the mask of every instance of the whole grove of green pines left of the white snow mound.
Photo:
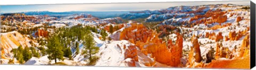
<svg viewBox="0 0 256 70">
<path fill-rule="evenodd" d="M 82 50 L 82 55 L 89 58 L 89 65 L 94 65 L 98 59 L 94 56 L 99 51 L 99 47 L 95 47 L 93 34 L 91 32 L 98 33 L 95 27 L 76 25 L 71 28 L 60 28 L 52 37 L 47 40 L 46 52 L 49 55 L 49 59 L 54 59 L 57 63 L 57 59 L 63 60 L 63 57 L 72 59 L 72 55 L 79 54 Z M 79 47 L 79 43 L 82 43 L 83 49 Z M 73 54 L 73 52 L 74 54 Z"/>
</svg>

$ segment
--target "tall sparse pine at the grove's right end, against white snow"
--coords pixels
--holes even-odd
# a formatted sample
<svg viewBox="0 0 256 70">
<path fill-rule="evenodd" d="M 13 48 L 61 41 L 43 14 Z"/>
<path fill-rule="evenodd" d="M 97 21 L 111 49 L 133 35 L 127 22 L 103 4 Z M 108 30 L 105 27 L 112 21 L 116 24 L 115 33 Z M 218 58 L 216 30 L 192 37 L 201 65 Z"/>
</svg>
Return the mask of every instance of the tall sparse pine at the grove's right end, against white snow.
<svg viewBox="0 0 256 70">
<path fill-rule="evenodd" d="M 98 57 L 93 55 L 99 51 L 99 47 L 94 46 L 95 43 L 91 33 L 88 33 L 86 36 L 84 36 L 83 45 L 84 45 L 84 48 L 86 49 L 84 51 L 88 51 L 87 55 L 89 55 L 89 60 L 90 60 L 89 65 L 94 65 Z"/>
</svg>

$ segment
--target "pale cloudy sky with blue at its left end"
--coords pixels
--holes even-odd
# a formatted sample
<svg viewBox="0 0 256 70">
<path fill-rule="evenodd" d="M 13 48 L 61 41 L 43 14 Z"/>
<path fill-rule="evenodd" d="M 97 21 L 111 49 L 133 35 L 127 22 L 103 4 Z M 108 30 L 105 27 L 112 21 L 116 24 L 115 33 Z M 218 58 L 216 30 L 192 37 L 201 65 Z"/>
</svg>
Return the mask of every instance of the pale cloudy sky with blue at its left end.
<svg viewBox="0 0 256 70">
<path fill-rule="evenodd" d="M 194 6 L 207 4 L 237 4 L 250 5 L 250 1 L 221 1 L 221 2 L 162 2 L 162 3 L 105 3 L 105 4 L 45 4 L 45 5 L 1 5 L 1 13 L 17 13 L 29 11 L 140 11 L 159 10 L 171 6 Z"/>
</svg>

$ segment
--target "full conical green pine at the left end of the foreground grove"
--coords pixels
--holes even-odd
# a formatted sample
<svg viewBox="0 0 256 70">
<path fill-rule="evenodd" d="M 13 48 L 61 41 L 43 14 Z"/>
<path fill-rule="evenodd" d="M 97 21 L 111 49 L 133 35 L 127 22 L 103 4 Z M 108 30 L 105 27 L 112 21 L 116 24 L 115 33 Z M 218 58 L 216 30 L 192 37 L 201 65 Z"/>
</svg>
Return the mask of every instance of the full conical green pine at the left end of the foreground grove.
<svg viewBox="0 0 256 70">
<path fill-rule="evenodd" d="M 63 47 L 61 47 L 60 38 L 57 35 L 49 38 L 47 48 L 46 52 L 50 60 L 54 59 L 55 63 L 57 63 L 57 58 L 63 60 Z"/>
</svg>

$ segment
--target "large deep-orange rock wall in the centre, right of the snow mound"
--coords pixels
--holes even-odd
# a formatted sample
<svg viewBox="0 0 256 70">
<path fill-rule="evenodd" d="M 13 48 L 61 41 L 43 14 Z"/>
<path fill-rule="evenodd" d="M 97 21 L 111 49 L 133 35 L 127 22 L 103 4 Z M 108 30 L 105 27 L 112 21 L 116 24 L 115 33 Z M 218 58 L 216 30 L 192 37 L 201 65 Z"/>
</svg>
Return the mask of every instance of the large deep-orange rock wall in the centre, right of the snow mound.
<svg viewBox="0 0 256 70">
<path fill-rule="evenodd" d="M 142 24 L 133 23 L 121 32 L 120 40 L 129 40 L 140 48 L 143 54 L 152 54 L 159 63 L 178 67 L 182 57 L 182 36 L 177 33 L 175 45 L 169 40 L 167 48 L 166 42 L 159 39 L 158 35 L 156 31 L 148 30 Z"/>
</svg>

